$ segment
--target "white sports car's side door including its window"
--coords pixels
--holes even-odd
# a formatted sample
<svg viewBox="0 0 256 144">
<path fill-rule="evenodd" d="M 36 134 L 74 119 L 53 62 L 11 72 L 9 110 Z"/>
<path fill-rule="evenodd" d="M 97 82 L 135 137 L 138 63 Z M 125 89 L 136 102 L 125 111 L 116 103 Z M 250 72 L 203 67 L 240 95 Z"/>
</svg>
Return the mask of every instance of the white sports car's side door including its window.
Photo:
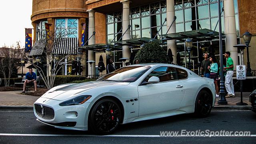
<svg viewBox="0 0 256 144">
<path fill-rule="evenodd" d="M 160 82 L 143 84 L 151 76 L 157 76 Z M 158 67 L 138 86 L 138 94 L 139 116 L 145 116 L 178 109 L 184 98 L 185 86 L 178 80 L 176 68 Z"/>
</svg>

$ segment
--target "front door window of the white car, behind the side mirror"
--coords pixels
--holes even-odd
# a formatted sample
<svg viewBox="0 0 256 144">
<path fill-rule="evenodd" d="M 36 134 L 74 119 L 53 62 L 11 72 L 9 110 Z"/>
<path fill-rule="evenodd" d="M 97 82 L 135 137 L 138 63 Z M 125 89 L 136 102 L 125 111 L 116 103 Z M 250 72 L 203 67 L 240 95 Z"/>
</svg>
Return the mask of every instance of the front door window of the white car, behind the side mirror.
<svg viewBox="0 0 256 144">
<path fill-rule="evenodd" d="M 157 76 L 160 79 L 160 82 L 167 82 L 171 80 L 177 80 L 176 70 L 172 67 L 159 67 L 154 69 L 148 76 L 145 78 L 145 82 L 148 82 L 148 79 L 152 76 Z"/>
</svg>

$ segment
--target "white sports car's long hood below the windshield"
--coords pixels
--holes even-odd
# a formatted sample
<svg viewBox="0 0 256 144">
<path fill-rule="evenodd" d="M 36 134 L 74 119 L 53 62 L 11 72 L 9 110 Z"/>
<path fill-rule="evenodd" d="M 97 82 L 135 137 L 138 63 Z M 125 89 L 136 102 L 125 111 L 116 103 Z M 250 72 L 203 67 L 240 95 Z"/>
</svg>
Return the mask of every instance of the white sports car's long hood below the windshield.
<svg viewBox="0 0 256 144">
<path fill-rule="evenodd" d="M 56 86 L 45 94 L 42 95 L 42 98 L 50 98 L 54 100 L 66 100 L 73 96 L 77 96 L 82 92 L 86 92 L 92 88 L 99 88 L 103 86 L 114 86 L 114 85 L 128 85 L 129 82 L 110 82 L 110 81 L 91 81 L 83 82 L 79 84 L 62 84 Z"/>
</svg>

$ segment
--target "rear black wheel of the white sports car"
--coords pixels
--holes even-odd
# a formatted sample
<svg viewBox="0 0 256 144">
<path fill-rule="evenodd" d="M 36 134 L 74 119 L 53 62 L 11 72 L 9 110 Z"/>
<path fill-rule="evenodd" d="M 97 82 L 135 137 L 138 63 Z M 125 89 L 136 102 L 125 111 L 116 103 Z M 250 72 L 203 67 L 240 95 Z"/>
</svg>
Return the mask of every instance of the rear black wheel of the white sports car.
<svg viewBox="0 0 256 144">
<path fill-rule="evenodd" d="M 195 114 L 200 118 L 209 116 L 212 110 L 212 95 L 206 90 L 201 90 L 196 96 Z"/>
</svg>

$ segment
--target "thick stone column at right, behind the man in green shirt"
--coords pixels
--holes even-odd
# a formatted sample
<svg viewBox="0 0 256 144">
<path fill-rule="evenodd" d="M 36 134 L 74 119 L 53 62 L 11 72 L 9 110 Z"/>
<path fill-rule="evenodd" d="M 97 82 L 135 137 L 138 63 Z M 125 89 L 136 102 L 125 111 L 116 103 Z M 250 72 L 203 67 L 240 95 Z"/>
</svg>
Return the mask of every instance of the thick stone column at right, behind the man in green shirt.
<svg viewBox="0 0 256 144">
<path fill-rule="evenodd" d="M 223 0 L 224 2 L 224 19 L 226 34 L 226 51 L 230 52 L 230 57 L 234 61 L 234 70 L 238 64 L 237 48 L 233 47 L 237 44 L 236 40 L 236 19 L 233 0 Z"/>
</svg>

